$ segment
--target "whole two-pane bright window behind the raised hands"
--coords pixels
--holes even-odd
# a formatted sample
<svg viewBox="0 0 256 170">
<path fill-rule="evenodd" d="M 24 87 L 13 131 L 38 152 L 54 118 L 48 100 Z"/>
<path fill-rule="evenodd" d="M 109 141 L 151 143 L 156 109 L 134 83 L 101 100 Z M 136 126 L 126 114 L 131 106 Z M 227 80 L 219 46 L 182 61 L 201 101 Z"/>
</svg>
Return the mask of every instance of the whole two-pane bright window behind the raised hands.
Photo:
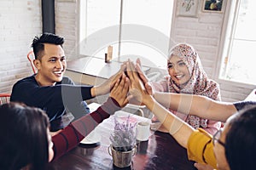
<svg viewBox="0 0 256 170">
<path fill-rule="evenodd" d="M 111 45 L 113 59 L 146 58 L 144 65 L 166 68 L 172 6 L 170 0 L 80 1 L 80 54 L 104 58 Z"/>
</svg>

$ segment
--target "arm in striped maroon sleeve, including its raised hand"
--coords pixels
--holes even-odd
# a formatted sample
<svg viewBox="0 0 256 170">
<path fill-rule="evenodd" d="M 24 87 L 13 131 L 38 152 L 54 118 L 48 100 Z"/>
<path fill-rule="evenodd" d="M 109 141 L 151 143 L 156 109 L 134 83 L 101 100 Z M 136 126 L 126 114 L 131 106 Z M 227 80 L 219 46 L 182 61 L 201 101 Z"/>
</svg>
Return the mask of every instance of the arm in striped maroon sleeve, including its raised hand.
<svg viewBox="0 0 256 170">
<path fill-rule="evenodd" d="M 61 133 L 53 136 L 55 157 L 62 156 L 68 150 L 72 150 L 79 142 L 84 139 L 99 123 L 119 111 L 128 103 L 126 98 L 130 81 L 125 74 L 121 75 L 114 84 L 108 100 L 96 111 L 85 115 L 79 120 L 65 127 Z"/>
</svg>

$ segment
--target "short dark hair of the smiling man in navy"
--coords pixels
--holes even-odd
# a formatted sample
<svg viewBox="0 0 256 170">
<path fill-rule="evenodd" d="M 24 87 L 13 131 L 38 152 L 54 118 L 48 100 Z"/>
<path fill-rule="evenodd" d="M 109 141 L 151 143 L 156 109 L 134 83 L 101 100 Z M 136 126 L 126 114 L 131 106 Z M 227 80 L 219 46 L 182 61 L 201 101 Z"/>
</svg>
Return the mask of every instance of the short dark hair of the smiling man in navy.
<svg viewBox="0 0 256 170">
<path fill-rule="evenodd" d="M 44 55 L 44 43 L 61 45 L 62 48 L 64 37 L 56 36 L 52 33 L 44 33 L 41 37 L 34 37 L 31 46 L 33 48 L 35 59 L 41 59 L 41 57 Z"/>
</svg>

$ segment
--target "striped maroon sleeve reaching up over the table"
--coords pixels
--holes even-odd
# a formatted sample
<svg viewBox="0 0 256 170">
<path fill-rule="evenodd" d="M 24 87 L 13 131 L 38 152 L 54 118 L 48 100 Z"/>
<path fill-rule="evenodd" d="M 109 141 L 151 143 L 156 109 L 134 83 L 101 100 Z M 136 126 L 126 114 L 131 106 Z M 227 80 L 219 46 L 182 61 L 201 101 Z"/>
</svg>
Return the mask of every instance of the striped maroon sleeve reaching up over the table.
<svg viewBox="0 0 256 170">
<path fill-rule="evenodd" d="M 113 98 L 108 100 L 96 111 L 79 118 L 77 121 L 65 127 L 61 133 L 52 137 L 54 160 L 72 150 L 79 142 L 84 139 L 99 123 L 103 122 L 115 111 L 119 111 L 118 102 Z"/>
</svg>

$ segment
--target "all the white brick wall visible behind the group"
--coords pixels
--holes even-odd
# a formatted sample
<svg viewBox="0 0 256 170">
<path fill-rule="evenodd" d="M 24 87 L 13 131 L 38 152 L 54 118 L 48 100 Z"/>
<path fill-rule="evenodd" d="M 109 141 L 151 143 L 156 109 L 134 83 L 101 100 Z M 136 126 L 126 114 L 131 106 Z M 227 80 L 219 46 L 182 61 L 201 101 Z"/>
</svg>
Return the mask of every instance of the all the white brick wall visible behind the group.
<svg viewBox="0 0 256 170">
<path fill-rule="evenodd" d="M 10 92 L 21 77 L 32 74 L 26 59 L 32 38 L 42 32 L 41 0 L 1 0 L 0 2 L 0 93 Z M 55 33 L 65 37 L 66 55 L 73 54 L 79 29 L 79 0 L 55 0 Z M 172 39 L 188 42 L 198 51 L 205 71 L 220 83 L 222 99 L 245 99 L 254 87 L 218 80 L 218 56 L 224 13 L 201 12 L 196 18 L 174 14 Z M 228 7 L 227 7 L 228 8 Z M 225 11 L 225 10 L 224 10 Z"/>
</svg>

